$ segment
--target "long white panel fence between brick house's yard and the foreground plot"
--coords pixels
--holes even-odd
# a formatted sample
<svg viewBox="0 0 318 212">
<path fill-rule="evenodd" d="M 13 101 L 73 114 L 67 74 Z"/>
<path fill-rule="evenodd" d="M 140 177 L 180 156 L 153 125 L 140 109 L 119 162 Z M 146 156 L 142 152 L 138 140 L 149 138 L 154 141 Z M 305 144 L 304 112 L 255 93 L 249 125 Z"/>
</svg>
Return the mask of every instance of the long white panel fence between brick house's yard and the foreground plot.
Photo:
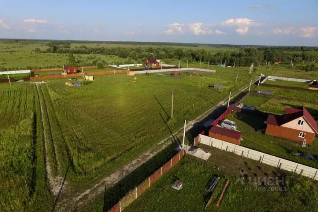
<svg viewBox="0 0 318 212">
<path fill-rule="evenodd" d="M 262 153 L 253 149 L 242 147 L 236 144 L 232 144 L 223 140 L 218 140 L 205 135 L 199 135 L 199 142 L 211 147 L 225 150 L 227 152 L 233 152 L 242 157 L 250 158 L 260 163 L 265 163 L 276 168 L 280 168 L 286 171 L 295 172 L 302 176 L 309 177 L 314 180 L 318 180 L 318 169 L 309 166 L 302 165 L 293 161 L 288 161 L 283 158 L 279 158 L 270 154 Z"/>
</svg>

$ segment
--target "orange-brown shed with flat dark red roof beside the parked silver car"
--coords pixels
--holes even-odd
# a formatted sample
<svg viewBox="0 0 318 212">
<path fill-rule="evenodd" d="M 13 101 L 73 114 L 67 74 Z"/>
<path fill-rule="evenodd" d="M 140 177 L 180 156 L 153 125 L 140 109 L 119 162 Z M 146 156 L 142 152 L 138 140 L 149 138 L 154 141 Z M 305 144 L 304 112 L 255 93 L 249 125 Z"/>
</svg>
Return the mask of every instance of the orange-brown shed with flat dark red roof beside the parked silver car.
<svg viewBox="0 0 318 212">
<path fill-rule="evenodd" d="M 242 133 L 235 130 L 214 126 L 209 130 L 209 137 L 240 145 Z"/>
</svg>

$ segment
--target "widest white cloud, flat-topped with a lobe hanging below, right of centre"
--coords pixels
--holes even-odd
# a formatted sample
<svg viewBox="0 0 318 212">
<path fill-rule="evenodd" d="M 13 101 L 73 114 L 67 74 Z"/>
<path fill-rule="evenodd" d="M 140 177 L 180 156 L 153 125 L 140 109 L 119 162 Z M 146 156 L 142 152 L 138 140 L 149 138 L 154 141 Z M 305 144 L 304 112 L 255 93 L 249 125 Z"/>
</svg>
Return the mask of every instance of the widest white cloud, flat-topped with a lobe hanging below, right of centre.
<svg viewBox="0 0 318 212">
<path fill-rule="evenodd" d="M 249 27 L 257 27 L 262 25 L 260 22 L 255 22 L 248 18 L 229 18 L 222 21 L 221 26 L 236 26 L 236 32 L 240 35 L 246 35 Z"/>
</svg>

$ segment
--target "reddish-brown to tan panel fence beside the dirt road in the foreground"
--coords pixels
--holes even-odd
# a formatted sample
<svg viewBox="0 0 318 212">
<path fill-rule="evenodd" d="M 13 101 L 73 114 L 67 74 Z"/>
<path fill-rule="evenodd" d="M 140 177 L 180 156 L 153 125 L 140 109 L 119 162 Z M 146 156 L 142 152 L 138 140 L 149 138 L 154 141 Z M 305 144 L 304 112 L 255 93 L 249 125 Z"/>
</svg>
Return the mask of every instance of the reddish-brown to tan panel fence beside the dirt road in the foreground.
<svg viewBox="0 0 318 212">
<path fill-rule="evenodd" d="M 135 199 L 142 195 L 154 182 L 156 182 L 164 173 L 168 172 L 170 168 L 176 165 L 184 155 L 184 149 L 173 156 L 168 162 L 160 167 L 155 173 L 151 174 L 145 181 L 140 183 L 137 187 L 130 190 L 126 196 L 114 205 L 108 212 L 121 212 L 128 207 Z"/>
</svg>

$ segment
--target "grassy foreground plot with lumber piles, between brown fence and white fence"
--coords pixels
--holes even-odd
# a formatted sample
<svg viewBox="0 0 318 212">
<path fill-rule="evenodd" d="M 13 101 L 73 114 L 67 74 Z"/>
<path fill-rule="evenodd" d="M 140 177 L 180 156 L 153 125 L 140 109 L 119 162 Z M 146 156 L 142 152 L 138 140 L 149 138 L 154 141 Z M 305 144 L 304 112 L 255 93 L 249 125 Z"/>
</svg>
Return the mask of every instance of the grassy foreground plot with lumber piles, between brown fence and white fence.
<svg viewBox="0 0 318 212">
<path fill-rule="evenodd" d="M 222 154 L 214 150 L 212 152 L 212 155 L 217 154 L 220 156 Z M 299 180 L 293 176 L 285 177 L 283 185 L 280 187 L 282 192 L 275 191 L 273 187 L 269 186 L 249 185 L 246 180 L 244 180 L 244 184 L 235 183 L 241 168 L 247 170 L 246 177 L 250 176 L 252 180 L 254 179 L 253 172 L 259 173 L 258 176 L 263 177 L 271 176 L 273 175 L 272 173 L 275 173 L 273 176 L 277 176 L 277 171 L 274 168 L 257 165 L 252 160 L 242 159 L 231 153 L 224 154 L 224 161 L 218 160 L 218 156 L 216 158 L 211 156 L 208 161 L 201 161 L 189 156 L 185 157 L 128 206 L 125 211 L 317 210 L 315 207 L 317 199 L 314 197 L 310 198 L 310 196 L 317 194 L 318 191 L 310 180 Z M 214 165 L 214 162 L 219 164 L 220 170 Z M 247 167 L 251 168 L 252 171 L 248 171 Z M 232 173 L 232 170 L 235 170 L 235 174 L 228 173 L 228 171 Z M 211 205 L 208 209 L 204 209 L 205 203 L 211 196 L 205 190 L 205 186 L 211 181 L 213 175 L 219 175 L 222 178 L 213 193 Z M 171 188 L 171 183 L 175 179 L 180 179 L 183 182 L 182 190 L 178 191 Z M 217 209 L 214 204 L 224 186 L 225 179 L 230 180 L 230 186 L 224 195 L 220 208 Z M 303 198 L 306 198 L 305 202 Z M 107 202 L 100 198 L 99 201 L 93 202 L 90 207 L 87 207 L 85 211 L 103 211 L 105 203 Z"/>
</svg>

